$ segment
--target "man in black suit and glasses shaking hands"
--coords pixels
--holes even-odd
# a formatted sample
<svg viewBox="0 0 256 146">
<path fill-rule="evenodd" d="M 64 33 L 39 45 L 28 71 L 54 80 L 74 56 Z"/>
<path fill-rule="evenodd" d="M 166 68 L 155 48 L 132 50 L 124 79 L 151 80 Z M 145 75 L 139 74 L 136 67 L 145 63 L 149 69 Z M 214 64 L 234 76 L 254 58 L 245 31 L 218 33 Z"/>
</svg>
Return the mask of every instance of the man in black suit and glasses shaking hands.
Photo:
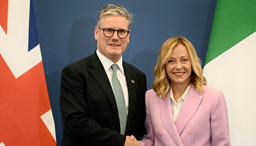
<svg viewBox="0 0 256 146">
<path fill-rule="evenodd" d="M 122 60 L 131 19 L 132 15 L 119 5 L 103 7 L 94 30 L 98 49 L 63 69 L 62 145 L 136 145 L 136 139 L 146 134 L 146 75 Z"/>
</svg>

